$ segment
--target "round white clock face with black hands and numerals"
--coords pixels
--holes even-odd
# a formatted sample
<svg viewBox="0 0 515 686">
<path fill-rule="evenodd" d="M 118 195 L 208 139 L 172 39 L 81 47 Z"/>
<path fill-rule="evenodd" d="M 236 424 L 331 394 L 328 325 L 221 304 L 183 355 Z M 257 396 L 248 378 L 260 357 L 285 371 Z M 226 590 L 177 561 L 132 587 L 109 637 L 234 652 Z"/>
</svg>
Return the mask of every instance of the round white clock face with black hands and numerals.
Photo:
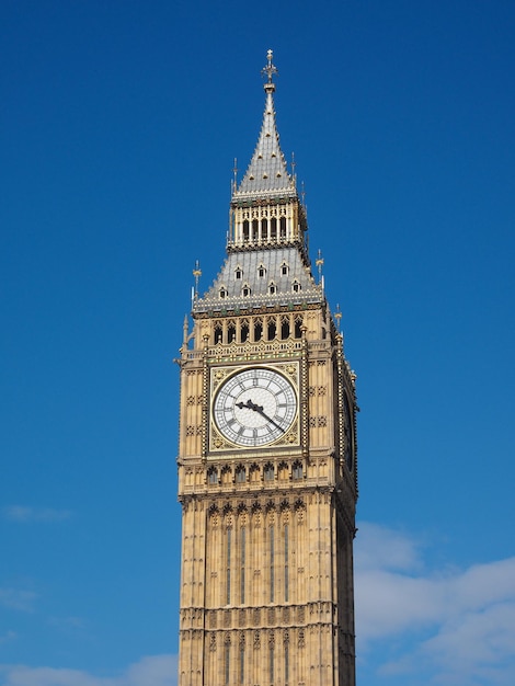
<svg viewBox="0 0 515 686">
<path fill-rule="evenodd" d="M 253 448 L 286 434 L 297 414 L 297 397 L 282 374 L 253 367 L 229 377 L 213 407 L 216 425 L 225 438 Z"/>
</svg>

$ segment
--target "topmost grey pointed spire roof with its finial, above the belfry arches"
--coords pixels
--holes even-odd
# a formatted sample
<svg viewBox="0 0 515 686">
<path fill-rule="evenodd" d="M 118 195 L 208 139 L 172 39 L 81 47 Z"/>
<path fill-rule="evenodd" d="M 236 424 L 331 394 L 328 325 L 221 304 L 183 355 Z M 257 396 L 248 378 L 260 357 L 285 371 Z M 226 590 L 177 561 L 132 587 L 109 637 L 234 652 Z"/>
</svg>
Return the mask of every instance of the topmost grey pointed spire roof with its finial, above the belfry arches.
<svg viewBox="0 0 515 686">
<path fill-rule="evenodd" d="M 251 199 L 255 197 L 276 196 L 277 193 L 296 196 L 295 180 L 289 175 L 286 160 L 279 145 L 279 135 L 275 123 L 273 93 L 275 83 L 272 81 L 277 69 L 272 64 L 273 53 L 268 50 L 268 62 L 263 69 L 267 81 L 264 84 L 266 101 L 258 145 L 247 172 L 232 194 L 232 199 Z"/>
</svg>

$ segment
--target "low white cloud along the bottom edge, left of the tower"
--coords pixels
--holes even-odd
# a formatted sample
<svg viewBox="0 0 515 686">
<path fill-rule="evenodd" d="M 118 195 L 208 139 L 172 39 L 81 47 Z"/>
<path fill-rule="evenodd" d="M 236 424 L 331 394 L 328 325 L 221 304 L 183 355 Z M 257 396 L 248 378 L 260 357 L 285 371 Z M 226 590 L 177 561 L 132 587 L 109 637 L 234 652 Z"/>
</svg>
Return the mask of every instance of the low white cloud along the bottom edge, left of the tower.
<svg viewBox="0 0 515 686">
<path fill-rule="evenodd" d="M 78 670 L 0 665 L 2 686 L 176 686 L 175 655 L 142 658 L 115 677 L 102 677 Z"/>
</svg>

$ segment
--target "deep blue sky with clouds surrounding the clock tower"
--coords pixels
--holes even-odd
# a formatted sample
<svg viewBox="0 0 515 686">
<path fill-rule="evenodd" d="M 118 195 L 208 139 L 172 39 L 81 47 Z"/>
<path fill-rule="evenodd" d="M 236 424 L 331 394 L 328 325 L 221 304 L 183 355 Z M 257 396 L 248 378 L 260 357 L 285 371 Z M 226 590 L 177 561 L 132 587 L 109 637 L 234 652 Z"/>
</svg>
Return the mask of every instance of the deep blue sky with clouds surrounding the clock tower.
<svg viewBox="0 0 515 686">
<path fill-rule="evenodd" d="M 174 686 L 178 370 L 274 48 L 358 375 L 359 686 L 515 683 L 515 5 L 0 7 L 0 684 Z"/>
</svg>

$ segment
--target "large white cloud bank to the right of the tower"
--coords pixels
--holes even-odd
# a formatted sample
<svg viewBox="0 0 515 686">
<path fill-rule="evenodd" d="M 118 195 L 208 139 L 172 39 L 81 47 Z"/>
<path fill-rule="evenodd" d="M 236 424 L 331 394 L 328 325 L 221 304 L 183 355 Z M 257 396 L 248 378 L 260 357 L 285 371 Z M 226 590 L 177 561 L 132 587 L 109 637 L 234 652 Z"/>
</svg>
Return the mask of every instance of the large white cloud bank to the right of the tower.
<svg viewBox="0 0 515 686">
<path fill-rule="evenodd" d="M 428 571 L 404 534 L 366 523 L 359 534 L 358 653 L 369 663 L 388 645 L 378 678 L 424 671 L 424 683 L 446 686 L 515 683 L 515 558 Z"/>
</svg>

